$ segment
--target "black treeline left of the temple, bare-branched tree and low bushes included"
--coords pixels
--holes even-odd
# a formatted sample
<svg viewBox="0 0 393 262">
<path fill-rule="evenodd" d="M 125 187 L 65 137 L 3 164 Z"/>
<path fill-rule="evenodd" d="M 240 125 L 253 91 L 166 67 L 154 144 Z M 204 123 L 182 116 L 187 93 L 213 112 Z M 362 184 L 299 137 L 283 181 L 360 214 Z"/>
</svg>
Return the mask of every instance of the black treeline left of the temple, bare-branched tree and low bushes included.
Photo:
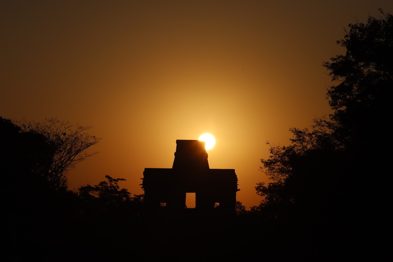
<svg viewBox="0 0 393 262">
<path fill-rule="evenodd" d="M 62 199 L 74 202 L 75 210 L 70 216 L 115 214 L 128 209 L 133 210 L 134 216 L 140 215 L 143 195 L 132 196 L 127 189 L 120 189 L 118 183 L 123 178 L 107 175 L 106 181 L 98 185 L 68 189 L 67 173 L 97 153 L 86 153 L 101 139 L 85 132 L 90 128 L 80 125 L 73 128 L 68 122 L 54 118 L 44 122 L 13 122 L 0 117 L 0 168 L 6 182 L 4 196 L 12 200 L 8 201 L 9 208 L 20 209 L 20 204 L 30 199 L 35 204 L 28 203 L 22 209 L 36 210 L 40 203 Z"/>
</svg>

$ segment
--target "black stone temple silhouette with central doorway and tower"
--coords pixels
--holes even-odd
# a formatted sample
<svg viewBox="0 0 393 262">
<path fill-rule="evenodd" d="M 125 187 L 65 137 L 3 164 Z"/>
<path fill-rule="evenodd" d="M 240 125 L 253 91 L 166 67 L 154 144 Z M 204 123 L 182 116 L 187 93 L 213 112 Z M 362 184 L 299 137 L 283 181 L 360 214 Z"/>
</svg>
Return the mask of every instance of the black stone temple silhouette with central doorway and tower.
<svg viewBox="0 0 393 262">
<path fill-rule="evenodd" d="M 235 214 L 235 170 L 210 169 L 203 141 L 176 140 L 172 168 L 145 168 L 141 179 L 147 211 L 185 212 L 186 193 L 195 193 L 195 212 Z"/>
</svg>

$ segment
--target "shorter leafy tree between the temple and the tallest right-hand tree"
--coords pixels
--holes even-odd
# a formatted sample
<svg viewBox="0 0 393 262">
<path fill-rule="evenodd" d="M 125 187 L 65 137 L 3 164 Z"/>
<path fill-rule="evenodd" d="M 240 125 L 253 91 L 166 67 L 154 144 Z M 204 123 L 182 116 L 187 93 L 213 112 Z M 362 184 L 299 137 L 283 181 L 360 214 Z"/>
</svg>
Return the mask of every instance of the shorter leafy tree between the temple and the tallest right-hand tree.
<svg viewBox="0 0 393 262">
<path fill-rule="evenodd" d="M 315 199 L 309 192 L 311 188 L 321 192 L 320 183 L 312 180 L 324 177 L 327 183 L 328 156 L 342 150 L 334 135 L 335 127 L 336 124 L 325 117 L 314 119 L 311 130 L 290 129 L 293 134 L 290 146 L 270 145 L 270 157 L 261 159 L 261 171 L 273 182 L 257 183 L 255 187 L 257 194 L 264 197 L 261 207 L 265 207 L 266 216 L 275 217 L 280 210 L 293 207 L 301 199 Z M 273 213 L 269 214 L 269 210 Z"/>
</svg>

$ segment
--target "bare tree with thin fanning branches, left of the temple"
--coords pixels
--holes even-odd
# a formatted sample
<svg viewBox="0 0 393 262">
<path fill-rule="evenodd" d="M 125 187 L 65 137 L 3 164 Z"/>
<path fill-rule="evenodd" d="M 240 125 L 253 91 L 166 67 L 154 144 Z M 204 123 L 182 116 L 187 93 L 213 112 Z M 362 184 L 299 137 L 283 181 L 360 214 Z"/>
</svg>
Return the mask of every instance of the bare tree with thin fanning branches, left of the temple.
<svg viewBox="0 0 393 262">
<path fill-rule="evenodd" d="M 79 124 L 74 126 L 56 118 L 46 118 L 44 122 L 23 120 L 15 123 L 23 132 L 44 136 L 50 144 L 51 164 L 45 175 L 50 185 L 58 190 L 67 188 L 66 175 L 70 170 L 73 170 L 79 162 L 98 153 L 86 151 L 101 140 L 86 133 L 92 126 L 84 127 Z"/>
</svg>

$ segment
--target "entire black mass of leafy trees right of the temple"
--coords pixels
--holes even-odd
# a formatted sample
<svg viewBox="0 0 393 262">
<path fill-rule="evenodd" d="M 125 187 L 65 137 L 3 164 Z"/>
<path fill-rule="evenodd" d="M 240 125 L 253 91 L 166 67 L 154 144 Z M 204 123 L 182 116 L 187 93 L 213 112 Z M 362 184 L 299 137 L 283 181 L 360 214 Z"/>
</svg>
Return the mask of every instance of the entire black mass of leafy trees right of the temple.
<svg viewBox="0 0 393 262">
<path fill-rule="evenodd" d="M 366 24 L 350 24 L 337 41 L 346 54 L 323 63 L 338 82 L 327 90 L 334 113 L 314 119 L 311 129 L 291 128 L 291 144 L 271 145 L 269 158 L 261 159 L 260 170 L 272 182 L 257 184 L 264 199 L 252 212 L 273 218 L 296 212 L 319 220 L 356 216 L 348 206 L 360 205 L 363 179 L 382 172 L 379 163 L 387 162 L 374 139 L 387 137 L 377 127 L 391 99 L 393 70 L 386 54 L 393 52 L 393 16 L 380 11 L 381 17 L 369 17 Z"/>
</svg>

